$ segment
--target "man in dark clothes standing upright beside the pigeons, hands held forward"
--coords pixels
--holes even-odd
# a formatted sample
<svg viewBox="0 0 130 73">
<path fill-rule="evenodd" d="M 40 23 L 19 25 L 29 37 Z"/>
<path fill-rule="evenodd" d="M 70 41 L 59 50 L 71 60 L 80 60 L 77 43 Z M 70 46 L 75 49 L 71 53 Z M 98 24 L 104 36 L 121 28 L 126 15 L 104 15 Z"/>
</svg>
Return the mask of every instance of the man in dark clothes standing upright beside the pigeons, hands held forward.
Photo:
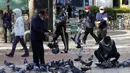
<svg viewBox="0 0 130 73">
<path fill-rule="evenodd" d="M 49 32 L 46 28 L 47 24 L 45 24 L 46 18 L 46 11 L 40 10 L 38 15 L 33 17 L 31 21 L 31 46 L 33 52 L 33 62 L 37 66 L 39 66 L 39 64 L 45 64 L 43 40 L 45 35 Z"/>
</svg>

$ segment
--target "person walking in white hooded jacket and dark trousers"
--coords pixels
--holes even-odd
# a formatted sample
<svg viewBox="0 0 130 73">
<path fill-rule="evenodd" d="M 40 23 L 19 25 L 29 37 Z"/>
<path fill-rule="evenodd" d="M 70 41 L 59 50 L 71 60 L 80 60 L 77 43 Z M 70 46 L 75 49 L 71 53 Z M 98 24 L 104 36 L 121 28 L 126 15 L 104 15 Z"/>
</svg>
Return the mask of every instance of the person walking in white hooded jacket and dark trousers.
<svg viewBox="0 0 130 73">
<path fill-rule="evenodd" d="M 23 46 L 23 48 L 25 50 L 25 53 L 21 57 L 28 57 L 29 51 L 24 42 L 24 22 L 23 22 L 23 18 L 22 18 L 22 11 L 20 9 L 16 8 L 13 10 L 13 12 L 14 12 L 16 21 L 15 21 L 14 29 L 11 32 L 11 34 L 15 34 L 15 38 L 13 41 L 11 52 L 9 54 L 6 54 L 6 56 L 8 56 L 8 57 L 14 56 L 16 46 L 17 46 L 18 42 L 20 41 L 21 45 Z"/>
</svg>

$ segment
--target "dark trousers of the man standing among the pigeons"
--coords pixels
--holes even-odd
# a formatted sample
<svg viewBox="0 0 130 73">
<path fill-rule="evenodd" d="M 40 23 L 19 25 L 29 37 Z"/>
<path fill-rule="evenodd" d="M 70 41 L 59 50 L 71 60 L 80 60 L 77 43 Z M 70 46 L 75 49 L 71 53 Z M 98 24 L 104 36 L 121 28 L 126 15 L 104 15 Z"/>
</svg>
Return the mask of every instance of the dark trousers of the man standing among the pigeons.
<svg viewBox="0 0 130 73">
<path fill-rule="evenodd" d="M 43 41 L 31 40 L 31 46 L 33 52 L 33 62 L 37 66 L 39 66 L 39 63 L 45 64 Z"/>
</svg>

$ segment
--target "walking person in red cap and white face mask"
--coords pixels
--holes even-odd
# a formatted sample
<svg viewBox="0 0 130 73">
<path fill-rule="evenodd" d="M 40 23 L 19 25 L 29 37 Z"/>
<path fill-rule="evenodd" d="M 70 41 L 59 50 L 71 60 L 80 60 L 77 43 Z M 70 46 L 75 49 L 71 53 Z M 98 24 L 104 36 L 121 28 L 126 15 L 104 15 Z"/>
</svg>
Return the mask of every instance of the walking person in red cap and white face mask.
<svg viewBox="0 0 130 73">
<path fill-rule="evenodd" d="M 90 11 L 90 6 L 86 6 L 85 12 L 86 12 L 86 16 L 84 18 L 85 35 L 84 35 L 82 41 L 85 44 L 87 36 L 90 33 L 91 36 L 95 39 L 96 44 L 97 44 L 99 41 L 98 41 L 97 36 L 93 32 L 95 23 L 94 23 L 94 16 L 93 16 L 92 12 Z"/>
</svg>

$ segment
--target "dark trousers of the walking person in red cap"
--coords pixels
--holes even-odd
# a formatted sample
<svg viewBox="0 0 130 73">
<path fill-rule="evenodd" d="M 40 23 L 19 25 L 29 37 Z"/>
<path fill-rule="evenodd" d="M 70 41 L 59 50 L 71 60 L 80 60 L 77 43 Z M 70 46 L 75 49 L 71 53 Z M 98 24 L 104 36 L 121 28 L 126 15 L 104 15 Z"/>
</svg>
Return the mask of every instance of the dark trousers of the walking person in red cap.
<svg viewBox="0 0 130 73">
<path fill-rule="evenodd" d="M 85 35 L 83 37 L 83 41 L 86 41 L 87 36 L 88 36 L 89 33 L 95 39 L 95 41 L 98 42 L 98 38 L 97 38 L 97 36 L 93 32 L 93 28 L 86 28 L 85 29 Z"/>
</svg>

